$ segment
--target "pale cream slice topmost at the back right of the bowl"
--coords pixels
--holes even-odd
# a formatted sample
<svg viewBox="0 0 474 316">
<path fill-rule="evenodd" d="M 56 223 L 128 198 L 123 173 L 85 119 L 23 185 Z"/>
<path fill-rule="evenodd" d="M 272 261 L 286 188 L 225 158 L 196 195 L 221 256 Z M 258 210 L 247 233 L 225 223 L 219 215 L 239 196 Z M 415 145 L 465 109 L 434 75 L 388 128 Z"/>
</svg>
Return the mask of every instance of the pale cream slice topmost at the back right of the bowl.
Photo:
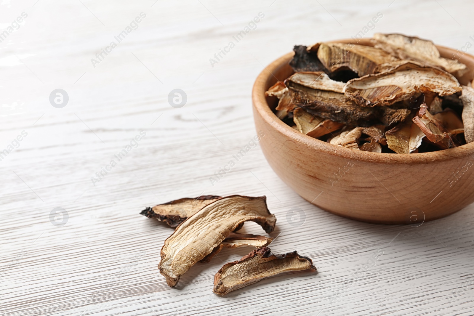
<svg viewBox="0 0 474 316">
<path fill-rule="evenodd" d="M 375 33 L 372 41 L 375 47 L 383 49 L 392 56 L 439 67 L 458 78 L 467 72 L 464 63 L 441 57 L 438 48 L 432 41 L 426 39 L 402 34 Z"/>
</svg>

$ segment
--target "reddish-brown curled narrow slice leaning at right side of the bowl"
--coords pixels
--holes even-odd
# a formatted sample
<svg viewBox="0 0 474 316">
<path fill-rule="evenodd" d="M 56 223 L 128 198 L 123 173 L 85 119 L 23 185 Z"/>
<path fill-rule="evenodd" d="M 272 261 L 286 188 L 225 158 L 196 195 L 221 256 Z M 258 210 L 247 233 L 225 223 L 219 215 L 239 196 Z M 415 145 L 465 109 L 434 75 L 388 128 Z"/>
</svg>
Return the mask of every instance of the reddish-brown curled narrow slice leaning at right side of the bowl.
<svg viewBox="0 0 474 316">
<path fill-rule="evenodd" d="M 426 138 L 438 147 L 447 149 L 455 146 L 451 136 L 447 132 L 443 132 L 444 127 L 441 126 L 438 119 L 428 112 L 426 104 L 420 106 L 418 114 L 413 117 L 413 122 L 418 125 Z"/>
</svg>

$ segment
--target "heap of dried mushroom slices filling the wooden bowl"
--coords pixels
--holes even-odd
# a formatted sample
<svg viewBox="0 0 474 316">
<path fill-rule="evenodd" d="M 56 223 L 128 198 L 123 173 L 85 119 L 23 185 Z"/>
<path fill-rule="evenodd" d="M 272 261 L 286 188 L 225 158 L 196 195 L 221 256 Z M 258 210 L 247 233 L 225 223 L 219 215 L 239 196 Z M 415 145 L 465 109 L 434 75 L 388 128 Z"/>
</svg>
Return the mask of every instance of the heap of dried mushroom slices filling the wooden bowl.
<svg viewBox="0 0 474 316">
<path fill-rule="evenodd" d="M 375 34 L 372 46 L 295 46 L 295 71 L 266 91 L 275 114 L 330 144 L 376 153 L 423 153 L 474 141 L 469 70 L 433 42 Z M 463 80 L 465 81 L 465 80 Z"/>
</svg>

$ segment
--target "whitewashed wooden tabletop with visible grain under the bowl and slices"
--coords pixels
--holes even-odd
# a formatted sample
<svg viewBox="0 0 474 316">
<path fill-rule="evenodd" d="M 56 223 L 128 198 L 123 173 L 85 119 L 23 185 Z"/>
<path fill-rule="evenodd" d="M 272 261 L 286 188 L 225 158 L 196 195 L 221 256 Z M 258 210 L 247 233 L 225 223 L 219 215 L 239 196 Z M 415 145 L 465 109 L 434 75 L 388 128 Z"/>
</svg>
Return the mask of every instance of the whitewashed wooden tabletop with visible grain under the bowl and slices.
<svg viewBox="0 0 474 316">
<path fill-rule="evenodd" d="M 210 183 L 256 133 L 255 77 L 294 44 L 355 36 L 381 12 L 366 36 L 401 32 L 461 49 L 474 44 L 472 1 L 81 1 L 0 2 L 2 31 L 27 13 L 0 43 L 0 150 L 27 132 L 0 161 L 1 315 L 473 314 L 472 205 L 421 226 L 337 217 L 289 189 L 258 146 Z M 94 68 L 91 58 L 140 12 L 139 27 Z M 259 12 L 256 29 L 212 67 Z M 183 108 L 168 104 L 176 88 Z M 55 89 L 69 95 L 64 108 L 49 103 Z M 94 186 L 141 130 L 137 148 Z M 266 195 L 273 252 L 297 250 L 319 273 L 221 298 L 215 272 L 250 251 L 228 249 L 170 289 L 156 266 L 172 229 L 138 213 L 200 194 Z M 61 227 L 49 218 L 58 207 L 69 215 Z M 301 226 L 287 221 L 292 208 L 304 211 Z"/>
</svg>

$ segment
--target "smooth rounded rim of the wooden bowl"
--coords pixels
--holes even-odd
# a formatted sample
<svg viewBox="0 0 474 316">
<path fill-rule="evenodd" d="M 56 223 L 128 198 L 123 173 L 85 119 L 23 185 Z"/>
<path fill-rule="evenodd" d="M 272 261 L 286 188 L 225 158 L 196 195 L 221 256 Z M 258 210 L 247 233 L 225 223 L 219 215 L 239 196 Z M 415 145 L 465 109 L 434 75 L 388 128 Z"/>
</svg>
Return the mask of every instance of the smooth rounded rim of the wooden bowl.
<svg viewBox="0 0 474 316">
<path fill-rule="evenodd" d="M 362 42 L 368 44 L 369 40 L 370 38 L 362 38 L 359 39 L 356 43 L 354 43 L 354 40 L 352 39 L 342 39 L 328 42 L 364 45 L 359 43 Z M 457 52 L 453 48 L 449 48 L 446 46 L 436 45 L 436 47 L 438 48 L 438 50 L 440 49 L 440 53 Z M 265 123 L 267 123 L 269 127 L 273 126 L 273 128 L 276 129 L 279 133 L 285 135 L 288 138 L 291 138 L 294 141 L 305 144 L 313 150 L 322 151 L 323 153 L 328 153 L 333 156 L 355 159 L 356 161 L 367 161 L 373 163 L 426 164 L 439 161 L 449 161 L 466 156 L 471 156 L 474 159 L 474 142 L 454 148 L 442 149 L 428 153 L 373 153 L 329 144 L 317 138 L 313 138 L 299 131 L 296 131 L 291 126 L 288 126 L 286 123 L 284 123 L 273 113 L 265 97 L 265 91 L 267 89 L 266 82 L 269 80 L 270 76 L 275 77 L 273 75 L 273 72 L 279 70 L 285 64 L 289 63 L 293 55 L 294 52 L 284 54 L 283 56 L 274 60 L 268 66 L 264 67 L 262 72 L 260 72 L 260 74 L 255 79 L 254 86 L 252 89 L 252 103 L 254 105 L 255 111 L 260 115 L 260 117 L 264 119 Z M 443 55 L 445 54 L 441 53 L 442 57 L 447 58 L 446 55 Z M 474 56 L 471 54 L 464 53 L 459 58 L 459 61 L 469 61 L 471 64 L 474 64 Z M 468 65 L 468 63 L 466 63 L 466 65 Z M 471 67 L 469 67 L 468 65 L 468 68 Z M 255 111 L 254 115 L 256 114 Z"/>
</svg>

